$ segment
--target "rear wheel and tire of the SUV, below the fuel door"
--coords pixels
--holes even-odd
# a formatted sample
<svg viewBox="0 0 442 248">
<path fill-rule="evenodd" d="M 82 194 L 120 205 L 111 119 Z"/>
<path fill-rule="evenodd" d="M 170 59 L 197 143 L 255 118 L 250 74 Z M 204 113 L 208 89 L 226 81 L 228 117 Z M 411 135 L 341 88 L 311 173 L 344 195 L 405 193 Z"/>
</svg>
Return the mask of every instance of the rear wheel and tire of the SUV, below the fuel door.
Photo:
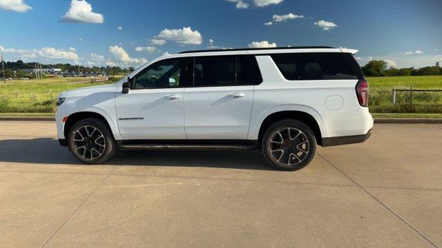
<svg viewBox="0 0 442 248">
<path fill-rule="evenodd" d="M 262 138 L 262 154 L 273 167 L 296 171 L 314 158 L 316 138 L 310 128 L 300 121 L 278 121 L 266 130 Z"/>
</svg>

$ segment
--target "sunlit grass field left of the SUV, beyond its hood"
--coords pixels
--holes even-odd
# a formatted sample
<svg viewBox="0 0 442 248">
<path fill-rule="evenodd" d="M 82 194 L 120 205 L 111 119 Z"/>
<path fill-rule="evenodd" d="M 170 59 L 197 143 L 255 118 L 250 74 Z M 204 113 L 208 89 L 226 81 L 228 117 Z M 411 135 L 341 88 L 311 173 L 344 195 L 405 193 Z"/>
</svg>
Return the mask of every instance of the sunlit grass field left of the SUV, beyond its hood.
<svg viewBox="0 0 442 248">
<path fill-rule="evenodd" d="M 94 78 L 52 78 L 13 80 L 6 81 L 6 84 L 0 82 L 0 113 L 53 113 L 60 92 L 111 83 L 95 83 L 93 80 Z"/>
</svg>

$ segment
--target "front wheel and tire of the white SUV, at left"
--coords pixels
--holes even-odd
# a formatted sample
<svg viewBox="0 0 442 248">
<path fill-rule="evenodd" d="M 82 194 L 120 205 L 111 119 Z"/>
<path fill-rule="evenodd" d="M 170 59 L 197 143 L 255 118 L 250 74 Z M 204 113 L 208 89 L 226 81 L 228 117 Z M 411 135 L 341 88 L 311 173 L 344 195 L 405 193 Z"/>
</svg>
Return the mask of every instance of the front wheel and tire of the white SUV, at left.
<svg viewBox="0 0 442 248">
<path fill-rule="evenodd" d="M 75 123 L 69 132 L 68 145 L 75 158 L 91 165 L 104 163 L 117 149 L 111 131 L 99 118 Z"/>
</svg>

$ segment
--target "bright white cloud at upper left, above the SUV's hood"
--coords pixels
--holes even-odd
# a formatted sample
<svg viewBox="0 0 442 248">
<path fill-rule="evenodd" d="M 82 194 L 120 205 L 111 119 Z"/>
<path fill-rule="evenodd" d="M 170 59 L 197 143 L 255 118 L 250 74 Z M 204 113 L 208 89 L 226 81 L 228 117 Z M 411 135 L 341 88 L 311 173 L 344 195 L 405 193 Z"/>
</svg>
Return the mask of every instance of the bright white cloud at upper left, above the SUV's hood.
<svg viewBox="0 0 442 248">
<path fill-rule="evenodd" d="M 69 23 L 103 23 L 103 14 L 92 12 L 92 6 L 86 0 L 72 0 L 70 8 L 61 21 Z"/>
</svg>

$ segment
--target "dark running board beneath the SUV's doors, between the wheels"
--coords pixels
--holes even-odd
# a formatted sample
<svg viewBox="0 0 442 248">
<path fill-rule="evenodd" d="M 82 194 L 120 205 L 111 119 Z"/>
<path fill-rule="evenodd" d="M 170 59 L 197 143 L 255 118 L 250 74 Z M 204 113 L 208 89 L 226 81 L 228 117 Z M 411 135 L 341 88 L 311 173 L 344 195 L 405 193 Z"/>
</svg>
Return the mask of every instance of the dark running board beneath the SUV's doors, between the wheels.
<svg viewBox="0 0 442 248">
<path fill-rule="evenodd" d="M 119 145 L 123 150 L 161 150 L 161 149 L 178 149 L 178 150 L 249 150 L 256 149 L 256 145 L 196 145 L 196 144 L 183 144 L 183 145 L 161 145 L 161 144 L 131 144 L 131 145 Z"/>
</svg>

